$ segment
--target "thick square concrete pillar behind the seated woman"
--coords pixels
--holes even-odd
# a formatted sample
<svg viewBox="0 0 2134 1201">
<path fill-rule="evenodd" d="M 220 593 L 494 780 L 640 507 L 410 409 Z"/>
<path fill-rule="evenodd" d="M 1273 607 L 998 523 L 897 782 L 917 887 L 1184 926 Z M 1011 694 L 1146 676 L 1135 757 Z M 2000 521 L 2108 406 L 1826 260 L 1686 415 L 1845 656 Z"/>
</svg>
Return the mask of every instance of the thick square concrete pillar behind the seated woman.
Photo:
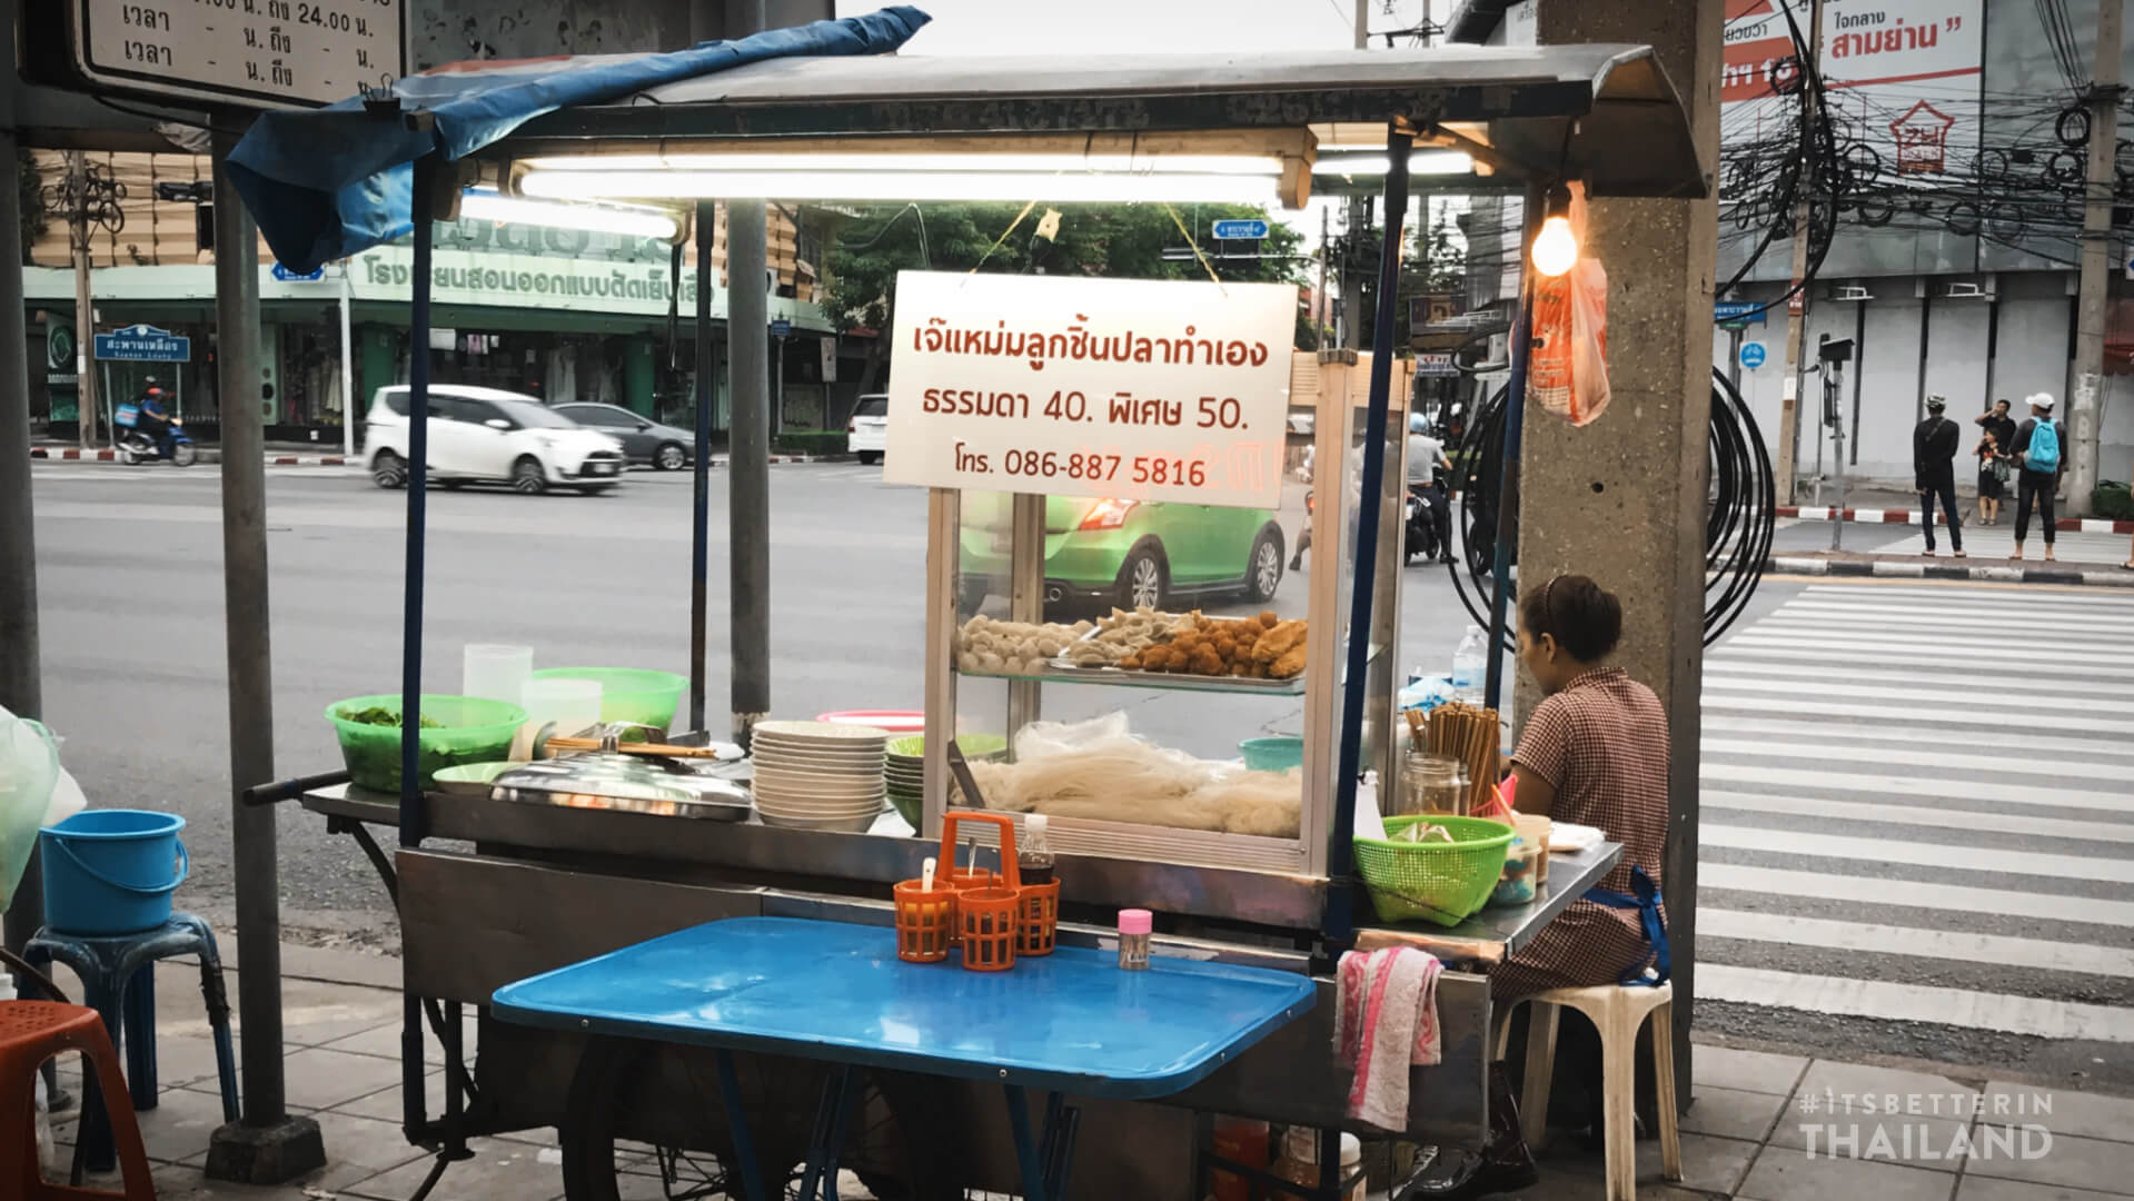
<svg viewBox="0 0 2134 1201">
<path fill-rule="evenodd" d="M 1658 49 L 1690 109 L 1705 169 L 1718 164 L 1720 0 L 1547 2 L 1539 41 Z M 1539 405 L 1526 412 L 1519 582 L 1539 587 L 1558 572 L 1579 572 L 1620 595 L 1618 661 L 1667 706 L 1675 813 L 1662 870 L 1675 956 L 1675 1069 L 1688 1101 L 1718 205 L 1594 201 L 1586 247 L 1609 271 L 1613 399 L 1586 429 Z M 1530 687 L 1522 687 L 1522 710 L 1536 700 Z"/>
</svg>

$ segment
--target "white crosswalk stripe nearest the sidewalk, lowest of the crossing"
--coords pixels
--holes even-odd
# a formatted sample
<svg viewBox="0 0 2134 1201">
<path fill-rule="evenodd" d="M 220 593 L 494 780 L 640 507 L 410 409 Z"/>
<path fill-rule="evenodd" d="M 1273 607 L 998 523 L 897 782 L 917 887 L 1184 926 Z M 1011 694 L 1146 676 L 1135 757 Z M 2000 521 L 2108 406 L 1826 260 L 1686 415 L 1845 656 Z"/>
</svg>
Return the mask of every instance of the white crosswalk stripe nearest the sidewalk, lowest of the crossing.
<svg viewBox="0 0 2134 1201">
<path fill-rule="evenodd" d="M 1972 934 L 1965 930 L 1918 930 L 1912 926 L 1876 926 L 1831 922 L 1827 917 L 1793 917 L 1786 913 L 1746 913 L 1739 909 L 1697 909 L 1697 934 L 1741 939 L 1746 943 L 1788 943 L 1825 951 L 1857 951 L 1874 956 L 1918 956 L 1965 964 L 2006 964 L 2029 971 L 2064 971 L 2081 975 L 2134 977 L 2134 951 L 2091 943 L 2047 943 L 2008 934 Z M 1709 960 L 1699 973 L 1709 971 Z"/>
</svg>

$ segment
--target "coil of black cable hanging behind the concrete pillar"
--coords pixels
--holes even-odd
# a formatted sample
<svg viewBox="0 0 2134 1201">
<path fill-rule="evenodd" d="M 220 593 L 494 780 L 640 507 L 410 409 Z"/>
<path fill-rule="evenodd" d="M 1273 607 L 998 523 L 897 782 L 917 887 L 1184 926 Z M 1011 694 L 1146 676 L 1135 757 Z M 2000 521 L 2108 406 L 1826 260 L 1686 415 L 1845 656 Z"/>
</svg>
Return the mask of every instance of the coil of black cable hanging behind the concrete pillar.
<svg viewBox="0 0 2134 1201">
<path fill-rule="evenodd" d="M 1705 512 L 1705 646 L 1741 616 L 1763 567 L 1771 557 L 1771 535 L 1778 529 L 1778 480 L 1771 476 L 1771 454 L 1748 401 L 1726 375 L 1711 371 L 1711 493 Z M 1504 474 L 1504 388 L 1498 388 L 1466 425 L 1460 439 L 1460 542 L 1458 557 L 1445 565 L 1453 576 L 1460 604 L 1483 629 L 1490 627 L 1490 606 L 1496 597 L 1494 555 L 1498 514 L 1517 523 L 1517 497 L 1502 499 Z M 1513 546 L 1517 546 L 1513 529 Z M 1517 561 L 1513 563 L 1517 565 Z M 1513 580 L 1517 582 L 1517 580 Z M 1513 599 L 1517 593 L 1513 593 Z M 1511 627 L 1504 629 L 1513 646 Z"/>
</svg>

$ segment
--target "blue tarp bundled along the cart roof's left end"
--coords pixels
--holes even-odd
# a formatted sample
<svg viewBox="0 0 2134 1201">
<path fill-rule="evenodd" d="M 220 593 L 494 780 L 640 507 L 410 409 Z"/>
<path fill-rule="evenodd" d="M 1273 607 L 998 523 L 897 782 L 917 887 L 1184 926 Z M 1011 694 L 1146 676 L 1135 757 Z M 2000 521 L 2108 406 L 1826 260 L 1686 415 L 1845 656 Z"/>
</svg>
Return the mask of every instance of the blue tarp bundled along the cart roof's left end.
<svg viewBox="0 0 2134 1201">
<path fill-rule="evenodd" d="M 926 21 L 926 13 L 894 4 L 866 17 L 768 30 L 672 53 L 444 66 L 393 85 L 403 111 L 431 113 L 429 128 L 412 130 L 399 115 L 371 115 L 361 98 L 327 109 L 265 113 L 230 151 L 230 183 L 275 258 L 305 273 L 405 235 L 412 228 L 414 160 L 425 154 L 465 158 L 542 113 L 619 100 L 749 62 L 888 53 Z"/>
</svg>

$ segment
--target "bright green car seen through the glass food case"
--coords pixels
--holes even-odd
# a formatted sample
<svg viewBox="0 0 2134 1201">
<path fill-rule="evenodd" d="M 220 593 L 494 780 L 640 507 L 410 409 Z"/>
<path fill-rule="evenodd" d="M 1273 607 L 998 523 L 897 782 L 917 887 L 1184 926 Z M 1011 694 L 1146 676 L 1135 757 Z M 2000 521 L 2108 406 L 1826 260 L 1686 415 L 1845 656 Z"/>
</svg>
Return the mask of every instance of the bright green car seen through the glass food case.
<svg viewBox="0 0 2134 1201">
<path fill-rule="evenodd" d="M 960 608 L 1007 591 L 1007 493 L 962 497 Z M 1283 527 L 1270 510 L 1046 497 L 1046 610 L 1116 604 L 1167 608 L 1174 599 L 1274 599 L 1283 582 Z"/>
</svg>

